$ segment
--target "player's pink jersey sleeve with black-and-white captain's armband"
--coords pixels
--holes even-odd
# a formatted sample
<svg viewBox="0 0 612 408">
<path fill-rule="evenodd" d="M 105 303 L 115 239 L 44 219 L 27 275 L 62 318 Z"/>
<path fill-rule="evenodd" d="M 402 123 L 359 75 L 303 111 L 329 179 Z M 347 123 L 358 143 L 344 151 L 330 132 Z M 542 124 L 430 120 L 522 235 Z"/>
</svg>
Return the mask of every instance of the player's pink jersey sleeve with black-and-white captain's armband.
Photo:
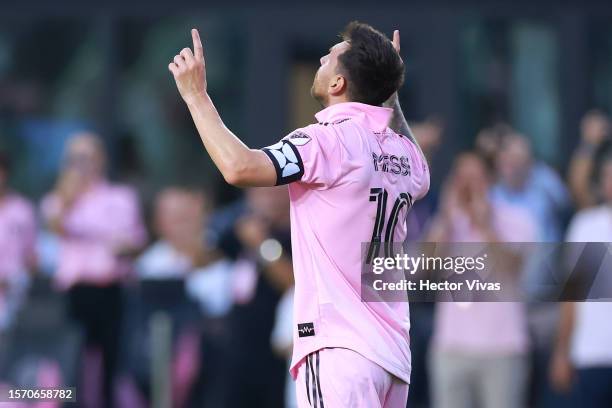
<svg viewBox="0 0 612 408">
<path fill-rule="evenodd" d="M 331 187 L 341 171 L 336 135 L 310 125 L 297 129 L 262 150 L 276 169 L 276 185 L 299 182 L 315 189 Z"/>
</svg>

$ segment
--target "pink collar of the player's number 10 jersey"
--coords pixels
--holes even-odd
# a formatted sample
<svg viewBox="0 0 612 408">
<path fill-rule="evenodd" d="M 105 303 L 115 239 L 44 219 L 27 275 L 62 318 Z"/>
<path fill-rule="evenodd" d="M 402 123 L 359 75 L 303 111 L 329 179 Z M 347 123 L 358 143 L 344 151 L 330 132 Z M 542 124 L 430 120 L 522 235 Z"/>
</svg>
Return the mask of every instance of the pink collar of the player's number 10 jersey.
<svg viewBox="0 0 612 408">
<path fill-rule="evenodd" d="M 319 111 L 315 118 L 320 122 L 336 122 L 347 118 L 360 118 L 370 129 L 382 132 L 389 126 L 393 109 L 382 106 L 366 105 L 359 102 L 337 103 Z"/>
</svg>

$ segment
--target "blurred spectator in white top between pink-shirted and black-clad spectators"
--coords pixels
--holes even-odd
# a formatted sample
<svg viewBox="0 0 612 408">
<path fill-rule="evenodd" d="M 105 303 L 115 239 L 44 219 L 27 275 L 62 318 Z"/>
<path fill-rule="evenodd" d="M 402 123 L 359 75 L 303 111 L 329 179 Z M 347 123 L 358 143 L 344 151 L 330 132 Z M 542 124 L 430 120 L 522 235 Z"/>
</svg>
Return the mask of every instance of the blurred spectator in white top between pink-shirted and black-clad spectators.
<svg viewBox="0 0 612 408">
<path fill-rule="evenodd" d="M 222 405 L 220 382 L 225 378 L 219 373 L 225 358 L 222 347 L 225 333 L 224 323 L 215 319 L 225 316 L 231 307 L 233 265 L 205 239 L 211 209 L 210 198 L 201 191 L 171 187 L 160 192 L 154 213 L 154 229 L 159 239 L 136 264 L 141 279 L 184 280 L 185 295 L 199 305 L 202 314 L 202 330 L 185 318 L 173 321 L 177 332 L 172 356 L 172 396 L 176 407 Z M 139 340 L 142 343 L 146 338 Z M 140 379 L 141 383 L 147 381 L 146 376 Z"/>
</svg>

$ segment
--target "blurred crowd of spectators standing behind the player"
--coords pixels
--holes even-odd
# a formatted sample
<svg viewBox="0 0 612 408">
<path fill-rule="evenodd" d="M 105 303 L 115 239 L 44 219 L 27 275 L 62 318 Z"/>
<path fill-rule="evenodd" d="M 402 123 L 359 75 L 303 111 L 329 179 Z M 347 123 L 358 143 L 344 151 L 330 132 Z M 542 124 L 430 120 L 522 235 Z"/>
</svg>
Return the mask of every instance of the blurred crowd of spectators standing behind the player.
<svg viewBox="0 0 612 408">
<path fill-rule="evenodd" d="M 413 131 L 435 167 L 443 125 Z M 414 205 L 410 239 L 612 242 L 612 124 L 588 112 L 579 133 L 560 174 L 529 135 L 483 129 Z M 38 204 L 10 169 L 0 155 L 4 386 L 74 385 L 84 407 L 294 406 L 286 188 L 219 207 L 172 185 L 142 203 L 109 180 L 103 140 L 87 132 Z M 409 406 L 612 406 L 610 315 L 605 302 L 414 303 Z"/>
</svg>

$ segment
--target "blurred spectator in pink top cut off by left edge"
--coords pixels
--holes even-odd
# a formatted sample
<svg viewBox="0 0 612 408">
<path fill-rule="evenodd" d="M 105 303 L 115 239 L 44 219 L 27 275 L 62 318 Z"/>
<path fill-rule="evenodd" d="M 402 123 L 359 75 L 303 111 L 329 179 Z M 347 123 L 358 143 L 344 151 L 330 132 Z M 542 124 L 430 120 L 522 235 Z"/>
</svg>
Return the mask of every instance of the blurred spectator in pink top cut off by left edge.
<svg viewBox="0 0 612 408">
<path fill-rule="evenodd" d="M 10 324 L 36 264 L 34 209 L 9 188 L 9 175 L 0 152 L 0 330 Z"/>
</svg>

